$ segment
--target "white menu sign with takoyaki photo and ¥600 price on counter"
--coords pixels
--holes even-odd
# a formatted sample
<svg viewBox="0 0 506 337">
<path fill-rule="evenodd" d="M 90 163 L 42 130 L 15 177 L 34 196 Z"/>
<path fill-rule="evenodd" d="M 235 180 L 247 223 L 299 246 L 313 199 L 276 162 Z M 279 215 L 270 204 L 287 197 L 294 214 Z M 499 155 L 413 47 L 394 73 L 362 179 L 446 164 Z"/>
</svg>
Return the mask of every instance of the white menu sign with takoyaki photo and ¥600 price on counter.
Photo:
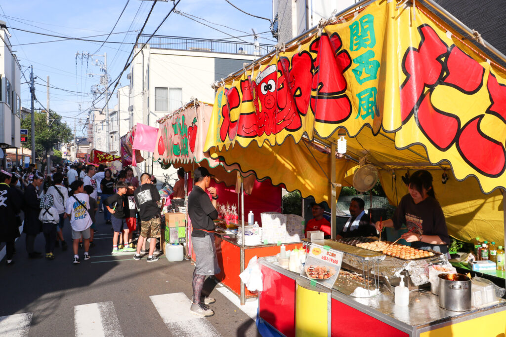
<svg viewBox="0 0 506 337">
<path fill-rule="evenodd" d="M 342 262 L 343 252 L 312 244 L 301 276 L 331 288 L 338 278 Z"/>
</svg>

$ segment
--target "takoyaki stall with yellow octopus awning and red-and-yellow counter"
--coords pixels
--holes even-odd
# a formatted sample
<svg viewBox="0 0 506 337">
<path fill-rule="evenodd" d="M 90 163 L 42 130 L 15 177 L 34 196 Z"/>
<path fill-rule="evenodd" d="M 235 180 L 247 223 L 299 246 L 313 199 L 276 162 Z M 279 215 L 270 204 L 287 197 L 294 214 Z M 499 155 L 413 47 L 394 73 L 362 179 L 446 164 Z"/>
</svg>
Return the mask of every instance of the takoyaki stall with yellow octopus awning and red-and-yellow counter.
<svg viewBox="0 0 506 337">
<path fill-rule="evenodd" d="M 393 205 L 406 191 L 400 177 L 427 169 L 451 181 L 435 183 L 450 235 L 503 242 L 506 69 L 487 53 L 506 57 L 463 38 L 469 28 L 433 2 L 413 3 L 360 1 L 216 84 L 204 150 L 332 206 L 350 165 L 376 166 Z M 308 166 L 319 169 L 308 175 Z M 371 253 L 356 245 L 377 238 L 360 239 L 308 243 L 299 271 L 260 259 L 261 319 L 284 335 L 504 333 L 503 288 L 486 283 L 483 300 L 479 282 L 455 274 L 445 255 L 399 245 Z M 445 275 L 433 282 L 444 294 L 426 290 L 431 270 Z M 407 307 L 394 304 L 401 275 Z"/>
</svg>

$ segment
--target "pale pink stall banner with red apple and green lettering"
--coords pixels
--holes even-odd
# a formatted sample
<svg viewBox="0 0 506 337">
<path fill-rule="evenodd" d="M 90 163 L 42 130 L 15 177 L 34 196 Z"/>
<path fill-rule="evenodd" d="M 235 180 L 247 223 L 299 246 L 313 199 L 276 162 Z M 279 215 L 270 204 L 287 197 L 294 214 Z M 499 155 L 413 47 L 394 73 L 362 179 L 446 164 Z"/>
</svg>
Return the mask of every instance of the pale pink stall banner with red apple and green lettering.
<svg viewBox="0 0 506 337">
<path fill-rule="evenodd" d="M 204 154 L 203 145 L 209 127 L 213 105 L 189 103 L 171 117 L 159 121 L 154 160 L 168 163 L 198 163 L 207 159 L 210 167 L 218 161 Z"/>
</svg>

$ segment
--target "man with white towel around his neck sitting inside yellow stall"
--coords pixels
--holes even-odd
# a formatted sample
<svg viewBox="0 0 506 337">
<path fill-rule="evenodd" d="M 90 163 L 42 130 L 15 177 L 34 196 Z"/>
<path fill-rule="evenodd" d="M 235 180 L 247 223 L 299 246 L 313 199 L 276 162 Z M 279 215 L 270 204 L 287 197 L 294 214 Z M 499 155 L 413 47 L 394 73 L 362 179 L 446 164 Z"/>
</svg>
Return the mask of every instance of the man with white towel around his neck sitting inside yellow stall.
<svg viewBox="0 0 506 337">
<path fill-rule="evenodd" d="M 376 235 L 376 228 L 369 221 L 364 211 L 365 203 L 360 198 L 352 198 L 350 202 L 350 218 L 336 238 Z"/>
</svg>

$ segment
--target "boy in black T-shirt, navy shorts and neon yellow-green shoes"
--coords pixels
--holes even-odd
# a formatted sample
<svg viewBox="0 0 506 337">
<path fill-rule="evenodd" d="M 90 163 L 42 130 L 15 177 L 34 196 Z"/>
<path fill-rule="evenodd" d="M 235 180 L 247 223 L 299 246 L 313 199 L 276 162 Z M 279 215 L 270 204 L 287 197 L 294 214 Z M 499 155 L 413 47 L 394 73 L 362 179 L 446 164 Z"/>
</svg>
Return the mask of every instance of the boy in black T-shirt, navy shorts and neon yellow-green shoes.
<svg viewBox="0 0 506 337">
<path fill-rule="evenodd" d="M 112 214 L 112 229 L 114 230 L 114 236 L 112 238 L 112 252 L 111 254 L 117 254 L 122 252 L 135 252 L 135 249 L 129 245 L 129 229 L 126 225 L 126 217 L 129 216 L 128 199 L 126 199 L 126 183 L 119 181 L 116 184 L 117 192 L 107 198 L 105 201 L 105 207 Z M 118 249 L 118 236 L 123 231 L 124 248 Z"/>
</svg>

